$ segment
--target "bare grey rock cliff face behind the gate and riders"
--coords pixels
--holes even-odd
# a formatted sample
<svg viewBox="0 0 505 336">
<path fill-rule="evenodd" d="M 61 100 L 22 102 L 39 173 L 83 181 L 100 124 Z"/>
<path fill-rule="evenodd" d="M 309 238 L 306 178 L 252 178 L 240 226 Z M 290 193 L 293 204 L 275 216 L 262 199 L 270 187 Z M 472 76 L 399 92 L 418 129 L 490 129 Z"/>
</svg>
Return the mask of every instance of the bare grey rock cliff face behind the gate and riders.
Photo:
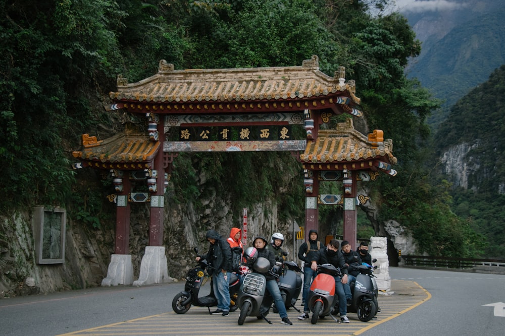
<svg viewBox="0 0 505 336">
<path fill-rule="evenodd" d="M 189 201 L 165 206 L 164 243 L 169 276 L 183 279 L 194 265 L 196 247 L 207 252 L 206 231 L 215 229 L 228 238 L 232 227 L 242 226 L 242 217 L 233 217 L 229 200 L 216 192 L 198 205 Z M 285 233 L 284 248 L 292 255 L 290 223 L 278 220 L 275 200 L 256 204 L 248 209 L 248 241 L 256 235 L 269 239 L 273 232 Z M 31 213 L 14 214 L 0 218 L 0 298 L 47 293 L 76 288 L 96 287 L 107 276 L 110 256 L 114 253 L 114 225 L 109 229 L 93 229 L 69 218 L 67 221 L 65 263 L 37 264 Z M 148 244 L 147 205 L 132 209 L 130 229 L 130 254 L 134 279 L 138 279 L 140 262 Z"/>
</svg>

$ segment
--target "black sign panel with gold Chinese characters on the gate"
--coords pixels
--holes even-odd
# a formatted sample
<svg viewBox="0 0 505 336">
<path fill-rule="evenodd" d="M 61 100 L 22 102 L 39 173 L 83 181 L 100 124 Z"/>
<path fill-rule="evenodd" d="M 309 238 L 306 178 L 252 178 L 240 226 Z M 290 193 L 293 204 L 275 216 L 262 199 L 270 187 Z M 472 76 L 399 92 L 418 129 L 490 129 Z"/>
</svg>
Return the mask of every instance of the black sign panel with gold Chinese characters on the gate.
<svg viewBox="0 0 505 336">
<path fill-rule="evenodd" d="M 293 140 L 290 125 L 180 127 L 179 141 Z"/>
</svg>

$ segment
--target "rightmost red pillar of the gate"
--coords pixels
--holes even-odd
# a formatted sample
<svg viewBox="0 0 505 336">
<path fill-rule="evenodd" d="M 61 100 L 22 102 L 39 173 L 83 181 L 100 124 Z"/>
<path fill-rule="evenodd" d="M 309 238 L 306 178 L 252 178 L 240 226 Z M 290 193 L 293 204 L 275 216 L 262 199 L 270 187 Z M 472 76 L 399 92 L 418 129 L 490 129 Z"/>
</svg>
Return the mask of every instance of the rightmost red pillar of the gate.
<svg viewBox="0 0 505 336">
<path fill-rule="evenodd" d="M 352 249 L 356 249 L 356 228 L 357 228 L 357 210 L 356 210 L 356 171 L 348 171 L 347 178 L 344 176 L 344 232 L 343 239 L 347 240 Z M 347 192 L 346 192 L 347 190 Z"/>
</svg>

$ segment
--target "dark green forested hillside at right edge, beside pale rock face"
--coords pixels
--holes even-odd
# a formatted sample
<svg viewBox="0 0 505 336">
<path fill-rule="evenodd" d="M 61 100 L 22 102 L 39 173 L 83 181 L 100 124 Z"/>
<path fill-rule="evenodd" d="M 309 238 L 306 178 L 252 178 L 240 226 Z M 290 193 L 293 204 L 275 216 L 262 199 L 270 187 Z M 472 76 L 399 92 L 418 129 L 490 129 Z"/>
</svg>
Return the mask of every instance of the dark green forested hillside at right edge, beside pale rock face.
<svg viewBox="0 0 505 336">
<path fill-rule="evenodd" d="M 487 256 L 505 255 L 505 65 L 489 80 L 470 91 L 454 105 L 435 136 L 440 153 L 463 143 L 476 145 L 465 161 L 479 169 L 468 178 L 468 190 L 457 188 L 454 212 L 472 228 L 489 238 Z"/>
</svg>

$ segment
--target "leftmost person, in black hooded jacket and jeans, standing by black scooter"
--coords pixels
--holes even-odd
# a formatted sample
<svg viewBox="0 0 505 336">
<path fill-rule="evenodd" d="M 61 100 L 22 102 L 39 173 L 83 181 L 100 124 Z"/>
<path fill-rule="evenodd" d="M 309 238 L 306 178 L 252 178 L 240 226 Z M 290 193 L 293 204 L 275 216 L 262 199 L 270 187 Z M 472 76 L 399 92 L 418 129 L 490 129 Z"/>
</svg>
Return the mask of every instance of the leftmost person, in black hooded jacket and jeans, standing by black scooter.
<svg viewBox="0 0 505 336">
<path fill-rule="evenodd" d="M 218 300 L 218 309 L 212 314 L 230 314 L 230 288 L 228 276 L 231 275 L 231 248 L 228 242 L 221 237 L 216 230 L 209 230 L 205 235 L 209 241 L 209 252 L 202 256 L 197 256 L 196 261 L 207 259 L 211 267 L 207 270 L 213 277 L 214 295 Z"/>
</svg>

